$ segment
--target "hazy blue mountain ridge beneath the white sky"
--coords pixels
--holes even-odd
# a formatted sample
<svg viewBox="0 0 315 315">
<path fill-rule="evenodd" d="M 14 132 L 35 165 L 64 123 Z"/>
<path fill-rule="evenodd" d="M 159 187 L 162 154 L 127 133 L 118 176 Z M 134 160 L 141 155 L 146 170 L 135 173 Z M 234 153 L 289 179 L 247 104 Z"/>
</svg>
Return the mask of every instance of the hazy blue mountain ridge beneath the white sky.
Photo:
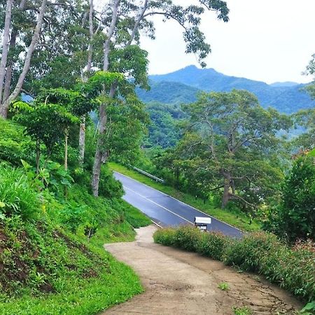
<svg viewBox="0 0 315 315">
<path fill-rule="evenodd" d="M 214 69 L 198 69 L 187 66 L 178 71 L 163 75 L 150 76 L 151 90 L 138 90 L 144 102 L 157 101 L 166 104 L 194 102 L 196 94 L 204 91 L 230 91 L 232 89 L 253 92 L 262 106 L 272 106 L 283 113 L 293 113 L 300 109 L 313 108 L 309 94 L 301 91 L 304 85 L 297 83 L 267 83 L 225 76 Z"/>
</svg>

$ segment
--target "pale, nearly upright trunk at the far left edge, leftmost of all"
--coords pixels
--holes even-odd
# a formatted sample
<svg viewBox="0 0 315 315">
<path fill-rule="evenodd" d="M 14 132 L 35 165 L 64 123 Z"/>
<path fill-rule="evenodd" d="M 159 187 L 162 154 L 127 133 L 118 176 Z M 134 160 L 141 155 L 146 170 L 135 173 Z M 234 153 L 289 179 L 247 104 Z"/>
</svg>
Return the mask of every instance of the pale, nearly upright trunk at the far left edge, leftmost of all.
<svg viewBox="0 0 315 315">
<path fill-rule="evenodd" d="M 1 52 L 1 62 L 0 62 L 0 100 L 2 99 L 3 82 L 4 82 L 4 76 L 6 73 L 6 61 L 8 59 L 12 4 L 13 4 L 13 0 L 6 1 L 6 18 L 4 20 L 3 42 L 2 42 L 2 52 Z"/>
</svg>

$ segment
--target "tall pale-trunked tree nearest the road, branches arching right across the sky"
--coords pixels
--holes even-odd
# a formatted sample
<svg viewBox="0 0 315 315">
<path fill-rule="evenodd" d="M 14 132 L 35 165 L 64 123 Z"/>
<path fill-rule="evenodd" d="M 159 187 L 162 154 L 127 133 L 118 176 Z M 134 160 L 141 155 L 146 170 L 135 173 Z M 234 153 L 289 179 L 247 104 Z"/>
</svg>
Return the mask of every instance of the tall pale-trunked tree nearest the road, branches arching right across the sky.
<svg viewBox="0 0 315 315">
<path fill-rule="evenodd" d="M 127 48 L 135 43 L 139 43 L 140 31 L 146 32 L 148 36 L 154 38 L 154 24 L 149 20 L 154 15 L 161 15 L 164 20 L 175 20 L 183 27 L 183 38 L 186 42 L 186 52 L 197 54 L 200 64 L 205 66 L 204 58 L 211 52 L 210 45 L 205 42 L 205 36 L 200 31 L 200 16 L 205 10 L 214 10 L 218 13 L 218 19 L 228 21 L 228 7 L 225 1 L 221 0 L 199 0 L 199 6 L 179 6 L 172 0 L 152 1 L 144 0 L 141 3 L 134 1 L 113 0 L 106 6 L 104 11 L 107 14 L 106 39 L 104 41 L 103 70 L 110 68 L 111 51 L 117 47 Z M 134 78 L 132 73 L 126 73 L 130 78 Z M 117 84 L 113 83 L 109 91 L 109 98 L 116 95 Z M 98 195 L 99 174 L 102 162 L 106 160 L 104 151 L 104 134 L 106 132 L 106 104 L 99 106 L 99 128 L 97 150 L 94 157 L 92 171 L 92 190 L 94 196 Z"/>
</svg>

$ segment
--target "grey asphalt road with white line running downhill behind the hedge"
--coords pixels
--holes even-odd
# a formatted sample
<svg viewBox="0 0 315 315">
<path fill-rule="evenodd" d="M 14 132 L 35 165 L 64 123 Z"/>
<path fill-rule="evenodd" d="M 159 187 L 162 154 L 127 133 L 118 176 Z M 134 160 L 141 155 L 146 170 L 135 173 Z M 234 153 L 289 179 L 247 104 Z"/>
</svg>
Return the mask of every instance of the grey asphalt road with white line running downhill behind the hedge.
<svg viewBox="0 0 315 315">
<path fill-rule="evenodd" d="M 123 183 L 125 189 L 123 199 L 144 212 L 158 225 L 163 227 L 183 224 L 193 225 L 195 216 L 207 216 L 211 218 L 211 225 L 208 226 L 208 230 L 220 231 L 232 237 L 241 237 L 243 235 L 241 230 L 219 221 L 213 216 L 204 214 L 202 211 L 190 207 L 188 204 L 184 204 L 154 188 L 139 183 L 139 181 L 130 179 L 130 177 L 118 172 L 114 172 L 114 176 Z"/>
</svg>

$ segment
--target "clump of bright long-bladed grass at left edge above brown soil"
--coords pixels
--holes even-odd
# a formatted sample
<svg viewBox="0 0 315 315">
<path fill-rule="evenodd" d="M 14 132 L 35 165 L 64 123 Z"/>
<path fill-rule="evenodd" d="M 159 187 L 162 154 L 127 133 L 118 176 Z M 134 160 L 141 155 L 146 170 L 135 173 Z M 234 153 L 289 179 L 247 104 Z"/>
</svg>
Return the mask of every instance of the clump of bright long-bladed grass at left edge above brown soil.
<svg viewBox="0 0 315 315">
<path fill-rule="evenodd" d="M 41 207 L 41 194 L 22 170 L 0 164 L 0 216 L 34 218 Z"/>
</svg>

